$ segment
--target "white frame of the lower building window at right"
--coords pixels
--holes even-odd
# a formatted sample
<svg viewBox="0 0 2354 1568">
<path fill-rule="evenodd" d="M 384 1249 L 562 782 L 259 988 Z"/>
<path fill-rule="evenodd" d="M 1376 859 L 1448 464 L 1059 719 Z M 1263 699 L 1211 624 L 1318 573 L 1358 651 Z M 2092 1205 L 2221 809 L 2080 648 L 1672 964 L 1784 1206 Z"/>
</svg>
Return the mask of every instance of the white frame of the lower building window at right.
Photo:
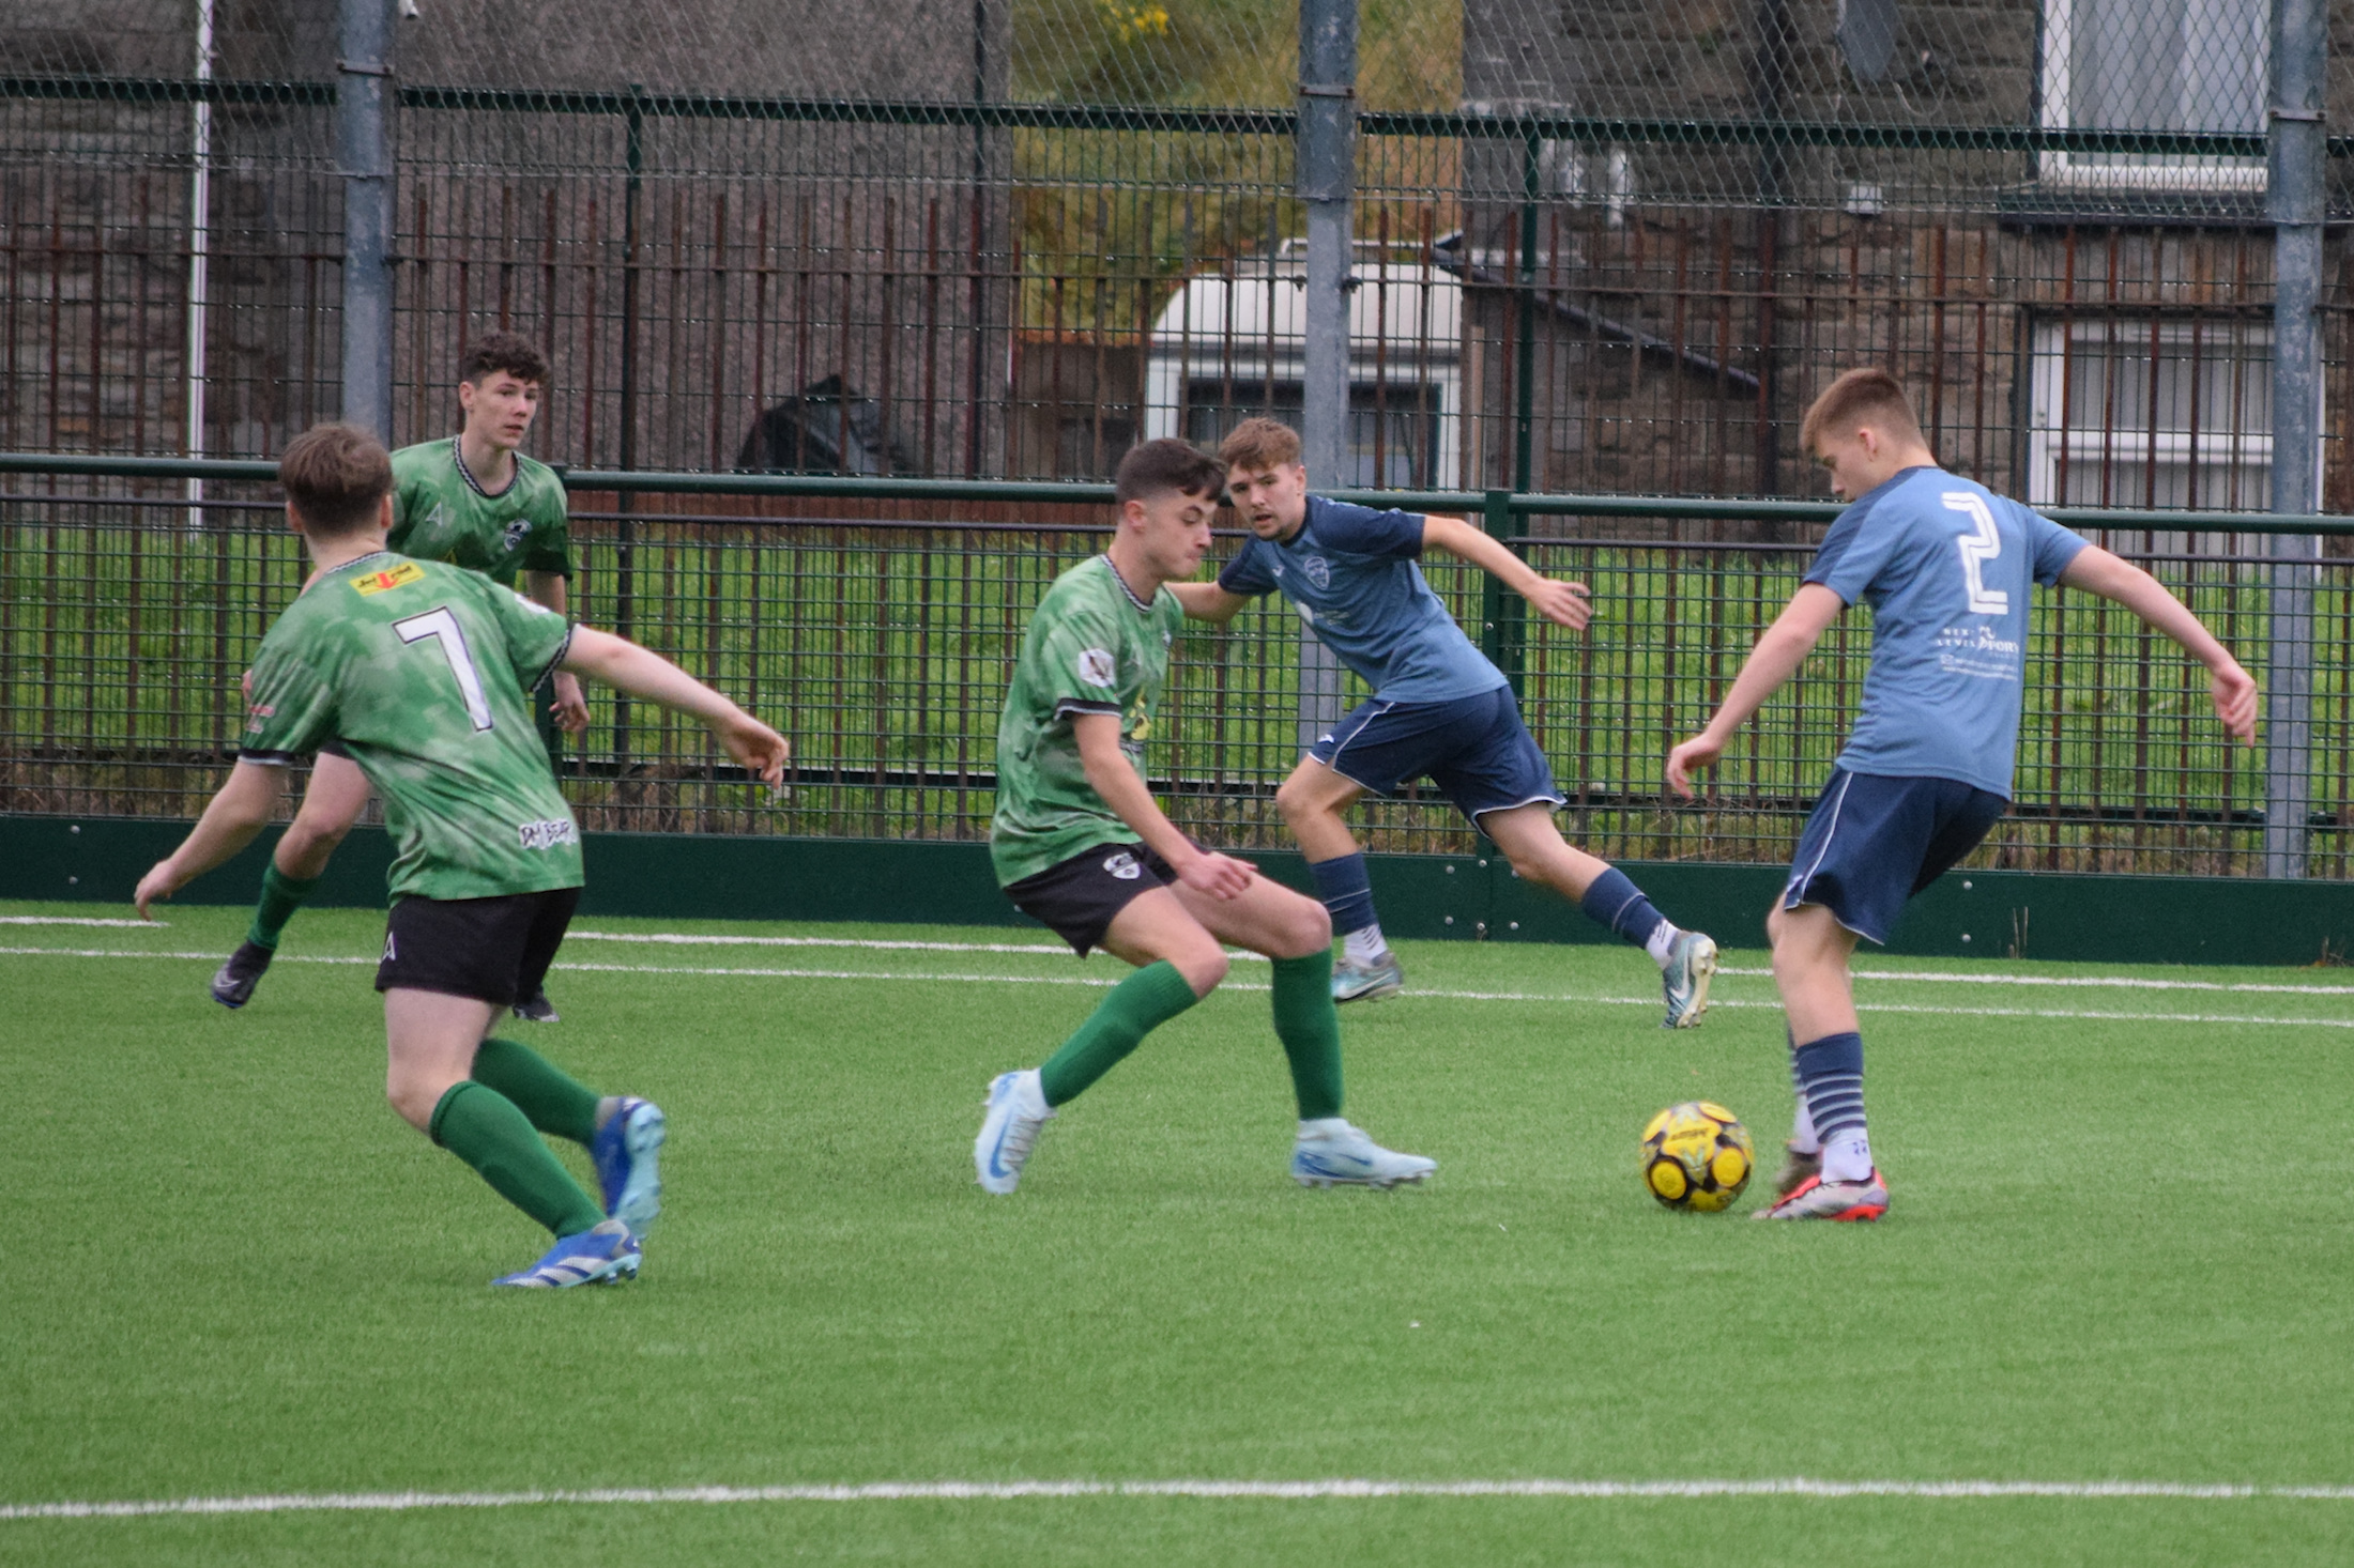
<svg viewBox="0 0 2354 1568">
<path fill-rule="evenodd" d="M 2187 344 L 2192 339 L 2192 323 L 2166 320 L 2159 323 L 2159 339 Z M 2116 344 L 2119 351 L 2133 353 L 2135 346 L 2149 341 L 2149 315 L 2100 315 L 2100 318 L 2074 318 L 2074 320 L 2039 320 L 2034 323 L 2034 337 L 2029 339 L 2029 400 L 2027 400 L 2027 501 L 2029 506 L 2067 506 L 2069 501 L 2060 494 L 2060 454 L 2067 452 L 2069 464 L 2093 464 L 2100 466 L 2102 445 L 2109 445 L 2109 457 L 2119 466 L 2130 466 L 2135 480 L 2112 497 L 2114 509 L 2140 509 L 2142 506 L 2142 464 L 2152 457 L 2156 461 L 2196 461 L 2199 466 L 2225 466 L 2239 464 L 2243 473 L 2243 487 L 2253 483 L 2253 492 L 2243 492 L 2239 504 L 2250 511 L 2262 511 L 2272 499 L 2272 431 L 2234 431 L 2234 428 L 2208 428 L 2201 424 L 2196 438 L 2189 431 L 2159 431 L 2152 436 L 2144 426 L 2119 426 L 2114 433 L 2104 433 L 2100 417 L 2086 419 L 2081 410 L 2067 410 L 2067 344 L 2074 339 L 2079 344 L 2093 344 L 2097 351 L 2107 351 L 2107 344 Z M 2206 334 L 2213 339 L 2227 332 L 2225 323 L 2208 323 Z M 2243 351 L 2262 348 L 2262 360 L 2250 360 L 2253 374 L 2272 374 L 2272 325 L 2269 323 L 2246 323 L 2239 325 Z M 2112 360 L 2121 358 L 2109 351 Z M 2062 412 L 2076 414 L 2076 428 L 2062 431 Z M 2192 511 L 2215 511 L 2199 501 L 2196 490 L 2192 490 Z M 2097 501 L 2081 501 L 2097 506 Z"/>
</svg>

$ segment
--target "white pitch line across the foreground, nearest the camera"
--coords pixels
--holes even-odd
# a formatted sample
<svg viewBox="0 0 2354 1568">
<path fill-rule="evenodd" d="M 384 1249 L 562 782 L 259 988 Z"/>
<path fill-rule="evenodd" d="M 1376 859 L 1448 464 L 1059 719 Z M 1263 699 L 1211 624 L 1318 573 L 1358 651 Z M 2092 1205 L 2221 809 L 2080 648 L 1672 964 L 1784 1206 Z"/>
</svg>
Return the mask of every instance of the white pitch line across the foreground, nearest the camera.
<svg viewBox="0 0 2354 1568">
<path fill-rule="evenodd" d="M 403 1514 L 661 1502 L 1019 1502 L 1026 1497 L 2168 1497 L 2354 1502 L 2354 1486 L 2210 1486 L 2196 1481 L 876 1481 L 866 1486 L 647 1486 L 532 1493 L 259 1493 L 125 1502 L 9 1502 L 0 1519 L 139 1519 L 151 1514 Z"/>
</svg>

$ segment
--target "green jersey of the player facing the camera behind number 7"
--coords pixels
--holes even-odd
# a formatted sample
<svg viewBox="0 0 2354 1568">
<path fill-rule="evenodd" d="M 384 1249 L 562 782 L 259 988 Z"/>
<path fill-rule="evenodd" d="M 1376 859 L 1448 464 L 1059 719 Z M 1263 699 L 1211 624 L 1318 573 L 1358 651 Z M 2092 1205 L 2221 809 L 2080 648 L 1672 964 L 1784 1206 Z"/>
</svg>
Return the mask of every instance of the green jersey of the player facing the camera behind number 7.
<svg viewBox="0 0 2354 1568">
<path fill-rule="evenodd" d="M 565 487 L 556 469 L 516 452 L 516 478 L 483 494 L 457 454 L 457 436 L 393 452 L 393 532 L 386 544 L 419 560 L 450 560 L 516 586 L 516 572 L 572 577 Z"/>
</svg>

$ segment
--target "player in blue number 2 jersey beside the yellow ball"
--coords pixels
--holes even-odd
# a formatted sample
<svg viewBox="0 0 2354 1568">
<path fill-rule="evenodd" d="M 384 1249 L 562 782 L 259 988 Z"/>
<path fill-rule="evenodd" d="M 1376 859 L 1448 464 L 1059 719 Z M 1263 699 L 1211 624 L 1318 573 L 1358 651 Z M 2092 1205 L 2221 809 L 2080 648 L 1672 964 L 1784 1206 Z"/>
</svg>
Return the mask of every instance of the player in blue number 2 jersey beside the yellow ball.
<svg viewBox="0 0 2354 1568">
<path fill-rule="evenodd" d="M 2010 805 L 2034 584 L 2086 589 L 2133 610 L 2208 669 L 2215 713 L 2255 739 L 2255 680 L 2149 572 L 2017 501 L 1947 473 L 1904 388 L 1850 370 L 1806 412 L 1801 445 L 1831 471 L 1838 513 L 1806 584 L 1758 638 L 1709 727 L 1667 756 L 1693 770 L 1806 662 L 1838 614 L 1871 605 L 1871 671 L 1848 746 L 1766 916 L 1789 1015 L 1798 1114 L 1777 1201 L 1761 1220 L 1878 1220 L 1888 1184 L 1864 1135 L 1864 1038 L 1848 958 L 1888 942 L 1904 902 L 1959 862 Z"/>
</svg>

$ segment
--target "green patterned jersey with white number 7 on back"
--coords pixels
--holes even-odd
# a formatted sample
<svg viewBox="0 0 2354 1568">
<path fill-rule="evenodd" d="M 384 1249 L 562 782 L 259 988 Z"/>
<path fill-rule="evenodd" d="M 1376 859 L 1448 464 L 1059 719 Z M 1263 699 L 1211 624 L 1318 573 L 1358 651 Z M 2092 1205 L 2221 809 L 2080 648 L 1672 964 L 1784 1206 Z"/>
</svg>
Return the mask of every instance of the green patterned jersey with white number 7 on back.
<svg viewBox="0 0 2354 1568">
<path fill-rule="evenodd" d="M 393 897 L 487 899 L 581 885 L 581 836 L 525 692 L 572 626 L 438 560 L 320 572 L 254 655 L 247 763 L 341 737 L 384 796 Z"/>
</svg>

